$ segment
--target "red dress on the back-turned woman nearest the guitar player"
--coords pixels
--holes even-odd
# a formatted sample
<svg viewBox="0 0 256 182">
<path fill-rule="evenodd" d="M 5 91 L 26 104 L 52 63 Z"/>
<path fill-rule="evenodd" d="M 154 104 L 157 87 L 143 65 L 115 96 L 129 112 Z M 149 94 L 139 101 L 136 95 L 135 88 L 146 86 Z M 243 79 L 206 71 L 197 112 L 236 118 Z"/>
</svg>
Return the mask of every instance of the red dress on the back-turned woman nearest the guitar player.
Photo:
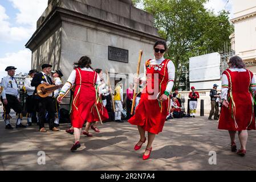
<svg viewBox="0 0 256 182">
<path fill-rule="evenodd" d="M 97 73 L 90 71 L 82 71 L 77 68 L 75 79 L 75 92 L 72 102 L 71 122 L 72 126 L 82 128 L 85 121 L 96 121 L 94 107 L 96 104 L 96 89 Z"/>
</svg>

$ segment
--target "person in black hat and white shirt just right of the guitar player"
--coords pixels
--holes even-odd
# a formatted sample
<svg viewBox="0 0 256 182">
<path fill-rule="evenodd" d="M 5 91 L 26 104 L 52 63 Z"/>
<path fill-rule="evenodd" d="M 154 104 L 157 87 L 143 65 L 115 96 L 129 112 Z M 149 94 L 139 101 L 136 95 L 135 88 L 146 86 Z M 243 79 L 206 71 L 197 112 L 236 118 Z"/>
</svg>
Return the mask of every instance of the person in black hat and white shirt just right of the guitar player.
<svg viewBox="0 0 256 182">
<path fill-rule="evenodd" d="M 54 75 L 53 75 L 53 83 L 55 85 L 61 85 L 62 84 L 62 77 L 63 77 L 63 74 L 60 70 L 56 70 Z M 54 126 L 58 127 L 59 126 L 59 103 L 57 102 L 57 97 L 59 96 L 59 92 L 60 92 L 60 89 L 56 89 L 54 91 L 54 102 L 55 102 L 55 121 L 54 121 Z"/>
</svg>

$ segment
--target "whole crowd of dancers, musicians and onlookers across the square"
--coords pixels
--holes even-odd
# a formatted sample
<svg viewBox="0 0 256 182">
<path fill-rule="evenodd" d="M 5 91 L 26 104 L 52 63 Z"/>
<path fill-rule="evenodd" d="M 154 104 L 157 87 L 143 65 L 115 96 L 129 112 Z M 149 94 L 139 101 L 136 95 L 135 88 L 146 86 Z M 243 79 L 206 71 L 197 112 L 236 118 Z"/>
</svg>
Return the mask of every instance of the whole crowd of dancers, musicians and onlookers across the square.
<svg viewBox="0 0 256 182">
<path fill-rule="evenodd" d="M 39 131 L 46 133 L 44 125 L 48 122 L 50 130 L 60 131 L 58 128 L 59 104 L 71 92 L 71 127 L 66 130 L 75 138 L 71 151 L 81 146 L 81 134 L 92 137 L 90 129 L 99 133 L 98 123 L 109 119 L 109 113 L 111 113 L 109 111 L 115 110 L 113 118 L 116 122 L 123 122 L 125 118 L 131 125 L 137 126 L 139 142 L 135 144 L 134 150 L 139 150 L 146 142 L 145 132 L 147 131 L 148 142 L 143 159 L 149 159 L 153 141 L 156 135 L 161 133 L 166 119 L 181 118 L 185 111 L 178 89 L 172 93 L 175 67 L 171 60 L 164 58 L 166 49 L 166 43 L 162 40 L 155 43 L 154 59 L 145 62 L 144 76 L 135 77 L 133 83 L 129 83 L 125 97 L 121 79 L 115 81 L 115 90 L 112 90 L 104 80 L 102 69 L 92 68 L 92 60 L 88 56 L 82 56 L 74 63 L 74 69 L 66 82 L 63 82 L 63 74 L 60 70 L 52 72 L 50 64 L 43 64 L 40 72 L 32 69 L 25 81 L 27 126 L 31 126 L 33 121 L 37 122 Z M 10 130 L 13 130 L 10 123 L 10 109 L 17 113 L 16 128 L 27 127 L 22 124 L 23 108 L 19 102 L 18 84 L 14 78 L 15 69 L 17 68 L 13 66 L 7 67 L 5 69 L 7 76 L 1 82 L 3 119 L 6 129 Z M 133 94 L 134 84 L 139 85 L 136 97 Z M 148 85 L 157 86 L 151 88 Z M 247 130 L 255 130 L 253 96 L 256 92 L 256 82 L 253 73 L 245 69 L 245 64 L 240 57 L 231 57 L 229 68 L 222 76 L 221 93 L 217 92 L 217 87 L 218 85 L 214 84 L 213 89 L 210 90 L 212 109 L 208 119 L 211 120 L 214 115 L 214 119 L 219 119 L 218 129 L 229 131 L 231 151 L 237 151 L 235 134 L 238 131 L 241 149 L 237 151 L 237 154 L 243 156 L 246 153 Z M 195 118 L 200 94 L 196 92 L 194 86 L 191 90 L 189 116 Z M 135 114 L 131 114 L 133 105 L 135 105 Z M 219 114 L 221 105 L 221 114 Z M 124 107 L 126 107 L 125 110 Z M 82 131 L 84 125 L 85 128 Z"/>
</svg>

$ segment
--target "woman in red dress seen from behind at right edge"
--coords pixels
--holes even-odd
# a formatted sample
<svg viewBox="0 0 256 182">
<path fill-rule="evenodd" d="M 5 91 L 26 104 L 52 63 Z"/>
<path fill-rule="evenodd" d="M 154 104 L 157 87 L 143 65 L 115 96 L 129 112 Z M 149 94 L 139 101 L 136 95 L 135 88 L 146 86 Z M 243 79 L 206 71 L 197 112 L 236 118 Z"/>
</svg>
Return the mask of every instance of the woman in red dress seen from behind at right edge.
<svg viewBox="0 0 256 182">
<path fill-rule="evenodd" d="M 218 129 L 229 131 L 233 152 L 237 151 L 235 134 L 238 131 L 241 149 L 237 151 L 237 154 L 241 156 L 246 154 L 247 130 L 255 130 L 253 108 L 255 90 L 256 82 L 253 73 L 245 69 L 241 57 L 231 57 L 229 69 L 226 69 L 222 75 L 223 106 Z"/>
</svg>

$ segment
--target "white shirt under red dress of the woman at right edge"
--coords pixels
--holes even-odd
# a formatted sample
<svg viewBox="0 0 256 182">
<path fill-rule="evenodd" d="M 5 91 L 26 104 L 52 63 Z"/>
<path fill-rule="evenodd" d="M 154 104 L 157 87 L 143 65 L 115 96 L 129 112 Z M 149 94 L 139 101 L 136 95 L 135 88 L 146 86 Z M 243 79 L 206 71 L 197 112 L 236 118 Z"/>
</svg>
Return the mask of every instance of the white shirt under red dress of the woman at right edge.
<svg viewBox="0 0 256 182">
<path fill-rule="evenodd" d="M 243 69 L 243 68 L 229 68 L 229 70 L 231 72 L 246 72 L 246 69 Z M 251 79 L 251 84 L 256 84 L 254 77 Z M 222 84 L 221 85 L 229 85 L 229 80 L 225 74 L 222 74 Z M 253 93 L 255 94 L 256 86 L 251 87 L 251 89 L 253 89 Z M 221 88 L 221 98 L 224 98 L 225 100 L 227 100 L 227 91 L 228 90 L 229 90 L 229 88 Z"/>
</svg>

